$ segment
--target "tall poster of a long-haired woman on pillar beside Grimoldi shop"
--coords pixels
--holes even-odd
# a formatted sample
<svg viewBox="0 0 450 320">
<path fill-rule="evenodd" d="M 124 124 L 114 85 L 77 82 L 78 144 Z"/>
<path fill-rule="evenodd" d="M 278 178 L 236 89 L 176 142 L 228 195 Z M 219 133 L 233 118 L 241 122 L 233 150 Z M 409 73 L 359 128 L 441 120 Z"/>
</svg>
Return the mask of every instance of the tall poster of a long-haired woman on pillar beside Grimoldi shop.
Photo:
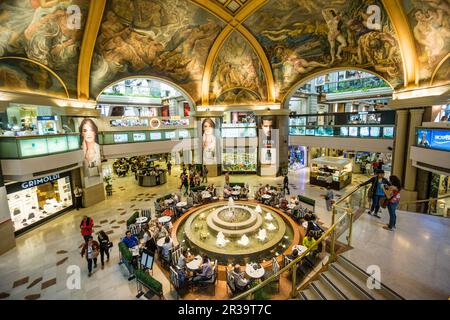
<svg viewBox="0 0 450 320">
<path fill-rule="evenodd" d="M 83 150 L 84 187 L 102 183 L 102 157 L 95 120 L 85 118 L 79 126 L 80 145 Z"/>
</svg>

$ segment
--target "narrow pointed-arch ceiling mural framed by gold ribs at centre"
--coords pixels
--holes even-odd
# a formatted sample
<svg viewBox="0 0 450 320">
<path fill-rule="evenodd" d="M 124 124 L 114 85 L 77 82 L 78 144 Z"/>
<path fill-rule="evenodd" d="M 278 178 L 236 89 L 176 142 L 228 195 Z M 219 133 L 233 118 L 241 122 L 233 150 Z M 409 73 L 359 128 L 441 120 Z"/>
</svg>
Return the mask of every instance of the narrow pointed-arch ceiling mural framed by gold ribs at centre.
<svg viewBox="0 0 450 320">
<path fill-rule="evenodd" d="M 214 60 L 210 81 L 211 103 L 233 88 L 245 88 L 254 92 L 252 96 L 256 96 L 257 100 L 267 101 L 266 79 L 261 63 L 240 33 L 233 32 L 225 40 Z"/>
</svg>

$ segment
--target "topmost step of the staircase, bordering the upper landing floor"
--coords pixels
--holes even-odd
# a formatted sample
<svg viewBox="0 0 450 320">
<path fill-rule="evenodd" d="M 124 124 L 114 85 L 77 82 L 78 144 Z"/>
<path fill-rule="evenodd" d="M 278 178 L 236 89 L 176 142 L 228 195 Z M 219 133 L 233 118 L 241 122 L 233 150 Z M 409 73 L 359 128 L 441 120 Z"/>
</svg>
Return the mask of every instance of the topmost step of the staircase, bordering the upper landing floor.
<svg viewBox="0 0 450 320">
<path fill-rule="evenodd" d="M 370 275 L 367 274 L 362 268 L 358 267 L 343 256 L 339 256 L 337 261 L 333 265 L 348 274 L 348 276 L 358 285 L 364 287 L 365 290 L 376 300 L 404 300 L 402 296 L 397 294 L 395 291 L 393 291 L 383 283 L 380 284 L 380 289 L 368 288 L 366 283 Z M 381 279 L 383 280 L 383 277 Z"/>
</svg>

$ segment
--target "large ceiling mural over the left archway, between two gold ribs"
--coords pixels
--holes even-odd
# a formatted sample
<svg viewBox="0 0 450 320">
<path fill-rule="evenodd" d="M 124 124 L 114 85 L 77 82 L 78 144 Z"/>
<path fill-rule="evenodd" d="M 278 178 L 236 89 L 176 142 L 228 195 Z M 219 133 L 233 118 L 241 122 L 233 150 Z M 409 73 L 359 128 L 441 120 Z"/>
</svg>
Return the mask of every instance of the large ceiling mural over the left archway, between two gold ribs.
<svg viewBox="0 0 450 320">
<path fill-rule="evenodd" d="M 198 101 L 208 52 L 222 28 L 187 0 L 112 0 L 97 38 L 91 96 L 120 78 L 151 75 Z"/>
</svg>

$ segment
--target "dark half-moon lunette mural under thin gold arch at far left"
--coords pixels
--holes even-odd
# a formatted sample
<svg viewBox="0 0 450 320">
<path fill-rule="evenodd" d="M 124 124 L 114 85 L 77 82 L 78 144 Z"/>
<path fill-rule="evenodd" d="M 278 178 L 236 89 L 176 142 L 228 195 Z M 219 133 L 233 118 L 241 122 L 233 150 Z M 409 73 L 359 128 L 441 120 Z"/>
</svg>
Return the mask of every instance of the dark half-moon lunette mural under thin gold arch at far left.
<svg viewBox="0 0 450 320">
<path fill-rule="evenodd" d="M 36 63 L 19 59 L 0 60 L 0 89 L 67 98 L 58 78 Z"/>
</svg>

